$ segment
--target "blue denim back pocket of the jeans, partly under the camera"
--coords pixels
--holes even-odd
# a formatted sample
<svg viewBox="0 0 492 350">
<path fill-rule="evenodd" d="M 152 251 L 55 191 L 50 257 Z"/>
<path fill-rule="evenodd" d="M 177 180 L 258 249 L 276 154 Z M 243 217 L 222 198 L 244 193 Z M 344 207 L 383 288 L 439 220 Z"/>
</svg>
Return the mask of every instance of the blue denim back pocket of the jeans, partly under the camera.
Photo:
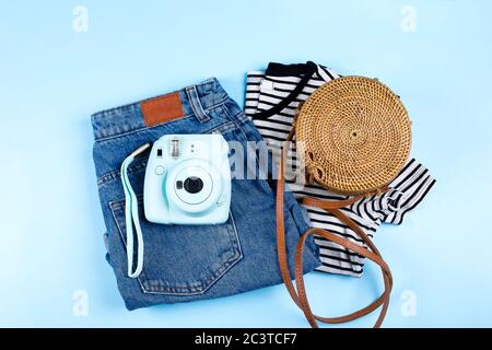
<svg viewBox="0 0 492 350">
<path fill-rule="evenodd" d="M 109 207 L 126 245 L 125 200 Z M 223 224 L 155 224 L 144 218 L 139 196 L 139 218 L 144 253 L 138 280 L 145 293 L 204 293 L 243 257 L 232 213 Z"/>
</svg>

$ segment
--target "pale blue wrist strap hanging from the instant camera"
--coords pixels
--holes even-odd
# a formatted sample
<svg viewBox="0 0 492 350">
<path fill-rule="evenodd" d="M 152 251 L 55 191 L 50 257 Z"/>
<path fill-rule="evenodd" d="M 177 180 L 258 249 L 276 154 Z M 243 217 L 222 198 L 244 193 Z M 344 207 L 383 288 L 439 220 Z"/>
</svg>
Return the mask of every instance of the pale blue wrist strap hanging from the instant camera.
<svg viewBox="0 0 492 350">
<path fill-rule="evenodd" d="M 131 187 L 130 179 L 128 178 L 128 166 L 133 160 L 141 155 L 150 143 L 147 143 L 130 155 L 128 155 L 121 164 L 121 184 L 125 191 L 125 225 L 127 228 L 127 261 L 128 261 L 128 277 L 137 278 L 143 268 L 143 235 L 140 228 L 139 219 L 139 202 L 137 195 Z M 137 236 L 137 266 L 133 270 L 133 225 Z"/>
</svg>

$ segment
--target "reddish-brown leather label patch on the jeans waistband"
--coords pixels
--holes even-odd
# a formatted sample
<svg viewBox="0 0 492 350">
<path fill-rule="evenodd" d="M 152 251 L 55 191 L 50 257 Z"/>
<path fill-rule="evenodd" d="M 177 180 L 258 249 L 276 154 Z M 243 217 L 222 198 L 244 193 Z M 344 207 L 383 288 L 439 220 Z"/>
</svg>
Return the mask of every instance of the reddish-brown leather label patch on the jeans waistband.
<svg viewBox="0 0 492 350">
<path fill-rule="evenodd" d="M 143 101 L 140 106 L 148 127 L 184 116 L 179 92 Z"/>
</svg>

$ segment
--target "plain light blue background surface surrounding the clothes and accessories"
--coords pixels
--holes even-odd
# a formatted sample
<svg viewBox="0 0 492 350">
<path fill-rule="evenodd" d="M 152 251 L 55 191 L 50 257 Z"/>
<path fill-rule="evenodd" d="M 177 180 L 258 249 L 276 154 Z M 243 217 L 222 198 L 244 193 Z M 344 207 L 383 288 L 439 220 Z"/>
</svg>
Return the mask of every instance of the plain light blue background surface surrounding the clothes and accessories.
<svg viewBox="0 0 492 350">
<path fill-rule="evenodd" d="M 492 326 L 490 1 L 85 0 L 80 34 L 77 4 L 0 3 L 0 326 L 306 326 L 282 285 L 127 312 L 104 259 L 90 115 L 211 75 L 242 104 L 246 70 L 308 59 L 399 93 L 412 154 L 437 178 L 403 225 L 377 232 L 395 277 L 385 326 Z M 400 27 L 405 4 L 415 33 Z M 335 316 L 374 299 L 379 279 L 367 264 L 362 279 L 307 284 Z M 72 313 L 77 290 L 86 317 Z"/>
</svg>

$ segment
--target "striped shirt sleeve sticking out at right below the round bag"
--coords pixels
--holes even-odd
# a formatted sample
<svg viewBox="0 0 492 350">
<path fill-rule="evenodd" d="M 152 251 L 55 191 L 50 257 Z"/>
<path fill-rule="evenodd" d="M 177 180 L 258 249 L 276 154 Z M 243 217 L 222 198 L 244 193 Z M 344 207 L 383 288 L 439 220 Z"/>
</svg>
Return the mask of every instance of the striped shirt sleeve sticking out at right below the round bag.
<svg viewBox="0 0 492 350">
<path fill-rule="evenodd" d="M 414 159 L 409 161 L 380 198 L 383 221 L 401 224 L 406 214 L 425 198 L 434 184 L 435 179 L 426 167 Z"/>
</svg>

